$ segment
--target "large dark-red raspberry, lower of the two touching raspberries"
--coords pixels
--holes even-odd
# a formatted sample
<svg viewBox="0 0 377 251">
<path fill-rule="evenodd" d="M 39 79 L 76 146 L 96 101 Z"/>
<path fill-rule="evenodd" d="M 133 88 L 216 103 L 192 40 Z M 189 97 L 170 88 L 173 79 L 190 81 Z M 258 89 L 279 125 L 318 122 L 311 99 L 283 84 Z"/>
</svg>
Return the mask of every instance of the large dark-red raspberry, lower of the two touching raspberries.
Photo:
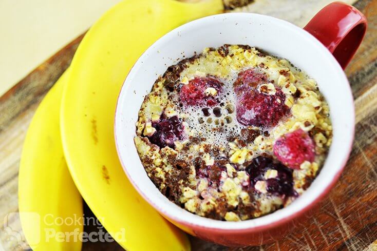
<svg viewBox="0 0 377 251">
<path fill-rule="evenodd" d="M 276 126 L 289 108 L 284 104 L 285 94 L 276 88 L 274 95 L 251 90 L 237 99 L 237 120 L 245 126 Z"/>
</svg>

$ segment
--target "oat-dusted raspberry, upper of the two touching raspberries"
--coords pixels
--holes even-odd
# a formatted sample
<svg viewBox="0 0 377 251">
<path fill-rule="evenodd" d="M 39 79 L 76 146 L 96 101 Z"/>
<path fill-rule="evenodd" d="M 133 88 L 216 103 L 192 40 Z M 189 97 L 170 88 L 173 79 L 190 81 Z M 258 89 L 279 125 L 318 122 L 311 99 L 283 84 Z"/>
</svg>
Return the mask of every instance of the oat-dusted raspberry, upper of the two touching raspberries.
<svg viewBox="0 0 377 251">
<path fill-rule="evenodd" d="M 268 78 L 266 74 L 258 72 L 255 68 L 251 68 L 238 73 L 238 78 L 233 84 L 234 92 L 237 95 L 250 92 L 255 89 L 259 84 L 266 84 Z"/>
</svg>

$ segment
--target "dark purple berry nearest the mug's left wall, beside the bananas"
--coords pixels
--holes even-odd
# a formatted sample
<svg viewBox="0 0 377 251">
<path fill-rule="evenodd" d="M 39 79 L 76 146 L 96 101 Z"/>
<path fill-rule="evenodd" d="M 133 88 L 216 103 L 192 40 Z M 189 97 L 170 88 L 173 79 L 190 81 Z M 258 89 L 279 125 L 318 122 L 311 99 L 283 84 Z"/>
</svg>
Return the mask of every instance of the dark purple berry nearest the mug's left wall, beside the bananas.
<svg viewBox="0 0 377 251">
<path fill-rule="evenodd" d="M 150 143 L 158 145 L 161 148 L 168 146 L 174 149 L 174 142 L 183 140 L 184 138 L 184 126 L 177 116 L 167 119 L 162 114 L 160 120 L 153 122 L 152 126 L 156 131 L 148 139 Z"/>
</svg>

